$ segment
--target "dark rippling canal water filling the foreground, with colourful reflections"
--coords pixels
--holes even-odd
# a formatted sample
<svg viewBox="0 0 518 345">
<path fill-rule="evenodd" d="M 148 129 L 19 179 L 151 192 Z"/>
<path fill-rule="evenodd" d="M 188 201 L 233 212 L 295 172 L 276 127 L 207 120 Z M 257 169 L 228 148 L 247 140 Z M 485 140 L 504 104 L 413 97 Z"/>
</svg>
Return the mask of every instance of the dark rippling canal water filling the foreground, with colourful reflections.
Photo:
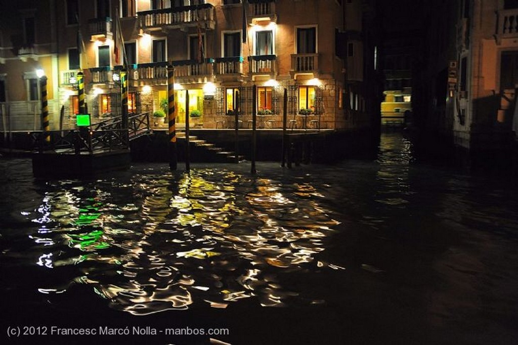
<svg viewBox="0 0 518 345">
<path fill-rule="evenodd" d="M 43 181 L 1 159 L 0 343 L 518 343 L 515 183 L 420 163 L 400 133 L 257 169 Z"/>
</svg>

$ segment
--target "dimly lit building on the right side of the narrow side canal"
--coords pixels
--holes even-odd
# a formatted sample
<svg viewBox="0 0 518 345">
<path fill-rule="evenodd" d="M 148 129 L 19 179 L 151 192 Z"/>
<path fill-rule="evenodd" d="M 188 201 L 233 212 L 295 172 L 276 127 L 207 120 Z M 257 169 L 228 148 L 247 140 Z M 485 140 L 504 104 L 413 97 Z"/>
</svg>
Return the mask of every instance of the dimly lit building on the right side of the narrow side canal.
<svg viewBox="0 0 518 345">
<path fill-rule="evenodd" d="M 509 150 L 518 125 L 518 1 L 434 1 L 426 13 L 422 126 L 470 151 Z"/>
</svg>

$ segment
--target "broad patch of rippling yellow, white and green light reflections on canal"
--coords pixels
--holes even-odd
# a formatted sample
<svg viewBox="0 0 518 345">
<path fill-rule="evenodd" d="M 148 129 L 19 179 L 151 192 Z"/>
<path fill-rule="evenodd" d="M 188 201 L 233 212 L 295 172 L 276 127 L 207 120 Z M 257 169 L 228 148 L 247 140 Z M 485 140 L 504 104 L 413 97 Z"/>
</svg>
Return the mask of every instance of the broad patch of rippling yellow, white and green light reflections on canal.
<svg viewBox="0 0 518 345">
<path fill-rule="evenodd" d="M 132 314 L 195 302 L 223 308 L 250 297 L 282 306 L 298 295 L 283 287 L 283 275 L 316 269 L 315 254 L 338 224 L 321 198 L 303 181 L 286 185 L 227 170 L 171 177 L 160 168 L 128 182 L 62 181 L 47 192 L 46 218 L 39 218 L 59 236 L 40 244 L 60 248 L 56 265 L 80 270 L 75 283 L 92 285 L 112 308 Z M 46 255 L 38 265 L 52 267 L 53 254 Z"/>
</svg>

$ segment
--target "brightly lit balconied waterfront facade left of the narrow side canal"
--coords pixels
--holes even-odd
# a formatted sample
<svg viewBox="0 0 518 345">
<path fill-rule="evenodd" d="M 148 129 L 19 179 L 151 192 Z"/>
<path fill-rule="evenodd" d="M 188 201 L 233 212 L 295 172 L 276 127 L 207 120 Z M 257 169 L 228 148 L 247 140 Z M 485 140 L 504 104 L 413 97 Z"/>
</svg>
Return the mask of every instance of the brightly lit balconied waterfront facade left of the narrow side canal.
<svg viewBox="0 0 518 345">
<path fill-rule="evenodd" d="M 237 112 L 282 125 L 354 128 L 370 123 L 362 0 L 22 0 L 2 1 L 0 104 L 4 130 L 39 129 L 39 80 L 48 77 L 51 129 L 74 126 L 77 75 L 84 73 L 94 122 L 118 116 L 120 72 L 128 71 L 130 113 L 154 113 L 174 66 L 177 123 L 227 127 Z M 4 18 L 5 17 L 5 18 Z M 346 49 L 344 49 L 346 47 Z M 347 48 L 349 52 L 347 52 Z M 369 64 L 372 68 L 372 64 Z M 370 72 L 367 72 L 369 74 Z M 349 76 L 349 79 L 347 79 Z M 354 81 L 355 85 L 352 84 Z M 255 85 L 255 97 L 252 87 Z M 189 102 L 187 95 L 189 95 Z M 349 102 L 350 101 L 350 102 Z M 353 116 L 354 115 L 354 116 Z M 365 121 L 364 121 L 365 118 Z"/>
</svg>

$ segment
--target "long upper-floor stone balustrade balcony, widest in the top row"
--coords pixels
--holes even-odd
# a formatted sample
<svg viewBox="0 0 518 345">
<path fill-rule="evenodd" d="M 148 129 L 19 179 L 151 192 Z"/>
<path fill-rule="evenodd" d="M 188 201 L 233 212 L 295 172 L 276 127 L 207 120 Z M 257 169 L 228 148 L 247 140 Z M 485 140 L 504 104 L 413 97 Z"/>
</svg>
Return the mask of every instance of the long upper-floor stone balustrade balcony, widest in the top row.
<svg viewBox="0 0 518 345">
<path fill-rule="evenodd" d="M 211 4 L 181 6 L 138 12 L 139 28 L 162 30 L 162 28 L 181 28 L 203 24 L 207 29 L 215 27 L 214 6 Z"/>
</svg>

